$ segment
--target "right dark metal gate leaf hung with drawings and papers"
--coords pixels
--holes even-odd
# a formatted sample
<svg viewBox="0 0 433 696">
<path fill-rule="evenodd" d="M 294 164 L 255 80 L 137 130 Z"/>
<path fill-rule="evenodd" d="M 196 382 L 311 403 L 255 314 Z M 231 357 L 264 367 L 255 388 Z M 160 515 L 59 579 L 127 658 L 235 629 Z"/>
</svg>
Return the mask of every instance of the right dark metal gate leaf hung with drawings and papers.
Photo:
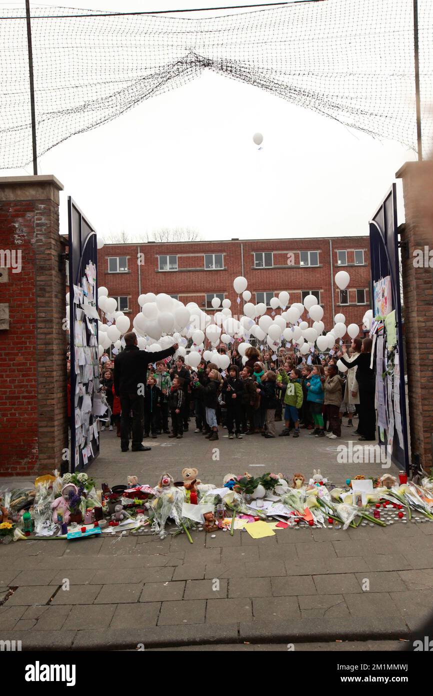
<svg viewBox="0 0 433 696">
<path fill-rule="evenodd" d="M 392 185 L 384 200 L 379 205 L 377 212 L 370 220 L 370 263 L 371 263 L 371 299 L 375 301 L 375 292 L 378 287 L 382 289 L 387 286 L 390 288 L 390 297 L 384 298 L 386 302 L 392 302 L 392 306 L 387 307 L 387 313 L 395 310 L 396 347 L 392 354 L 392 365 L 397 365 L 392 380 L 385 374 L 384 380 L 388 390 L 392 385 L 393 394 L 388 401 L 389 416 L 393 419 L 393 425 L 401 422 L 401 432 L 395 433 L 391 449 L 391 459 L 400 469 L 405 469 L 409 474 L 409 448 L 407 441 L 407 411 L 406 411 L 406 392 L 405 392 L 405 363 L 403 351 L 403 332 L 402 332 L 402 306 L 400 298 L 400 263 L 398 258 L 398 224 L 397 224 L 397 201 L 396 187 Z M 386 294 L 386 290 L 384 290 Z M 374 313 L 374 310 L 373 310 Z M 386 351 L 385 351 L 386 356 Z M 378 357 L 378 356 L 377 356 Z M 388 356 L 389 357 L 389 356 Z M 377 361 L 376 361 L 377 362 Z M 376 365 L 377 371 L 382 367 Z M 397 387 L 398 383 L 398 387 Z M 399 397 L 397 395 L 397 389 Z M 393 395 L 397 395 L 393 398 Z M 400 408 L 400 413 L 398 413 Z M 389 433 L 387 433 L 387 436 Z M 379 430 L 379 441 L 385 444 L 388 440 L 382 439 Z"/>
</svg>

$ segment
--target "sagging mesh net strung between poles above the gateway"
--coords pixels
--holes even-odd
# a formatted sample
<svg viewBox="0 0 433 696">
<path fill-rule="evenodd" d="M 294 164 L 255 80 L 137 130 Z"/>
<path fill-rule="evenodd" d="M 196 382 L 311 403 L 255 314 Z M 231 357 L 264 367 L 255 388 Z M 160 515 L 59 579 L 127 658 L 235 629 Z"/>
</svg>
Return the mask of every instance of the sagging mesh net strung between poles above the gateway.
<svg viewBox="0 0 433 696">
<path fill-rule="evenodd" d="M 416 150 L 411 0 L 325 0 L 204 19 L 31 13 L 38 155 L 206 69 Z M 0 17 L 0 168 L 19 168 L 32 159 L 26 19 L 22 9 L 0 8 Z M 419 42 L 429 138 L 431 0 L 419 0 Z"/>
</svg>

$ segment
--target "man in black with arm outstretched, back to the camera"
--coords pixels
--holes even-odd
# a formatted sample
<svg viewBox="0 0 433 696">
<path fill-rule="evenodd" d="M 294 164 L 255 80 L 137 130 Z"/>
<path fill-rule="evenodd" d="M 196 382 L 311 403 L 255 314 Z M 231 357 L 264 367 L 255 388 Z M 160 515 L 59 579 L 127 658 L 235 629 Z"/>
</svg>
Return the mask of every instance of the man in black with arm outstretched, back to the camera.
<svg viewBox="0 0 433 696">
<path fill-rule="evenodd" d="M 137 345 L 137 335 L 130 331 L 124 335 L 126 348 L 115 357 L 114 361 L 114 390 L 120 397 L 122 416 L 120 418 L 120 448 L 122 452 L 129 450 L 129 413 L 132 411 L 132 445 L 133 452 L 145 452 L 150 447 L 141 443 L 144 429 L 145 383 L 147 381 L 147 365 L 163 360 L 173 355 L 178 345 L 171 348 L 148 353 L 140 350 Z"/>
</svg>

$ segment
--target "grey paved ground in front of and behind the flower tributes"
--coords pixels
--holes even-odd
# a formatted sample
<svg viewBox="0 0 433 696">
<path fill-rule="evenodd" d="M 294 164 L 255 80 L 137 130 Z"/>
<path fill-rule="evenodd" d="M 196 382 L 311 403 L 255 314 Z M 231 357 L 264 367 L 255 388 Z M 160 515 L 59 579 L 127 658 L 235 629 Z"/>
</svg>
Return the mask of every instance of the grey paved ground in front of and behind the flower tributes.
<svg viewBox="0 0 433 696">
<path fill-rule="evenodd" d="M 90 473 L 98 483 L 126 483 L 135 474 L 154 485 L 163 471 L 179 479 L 190 465 L 203 482 L 220 485 L 224 474 L 245 470 L 307 477 L 319 466 L 336 484 L 389 471 L 379 463 L 338 464 L 336 447 L 356 439 L 351 432 L 343 427 L 341 440 L 328 441 L 304 430 L 297 440 L 270 443 L 259 435 L 229 441 L 222 431 L 208 443 L 190 430 L 181 441 L 145 441 L 152 452 L 122 453 L 106 431 Z M 410 640 L 432 609 L 429 522 L 279 530 L 258 540 L 247 532 L 218 531 L 213 538 L 202 531 L 193 541 L 146 533 L 0 546 L 0 601 L 8 587 L 17 588 L 0 606 L 0 638 L 22 640 L 23 649 L 212 643 L 334 649 L 338 640 L 341 649 L 354 649 L 380 640 L 393 650 L 406 645 L 402 639 Z"/>
</svg>

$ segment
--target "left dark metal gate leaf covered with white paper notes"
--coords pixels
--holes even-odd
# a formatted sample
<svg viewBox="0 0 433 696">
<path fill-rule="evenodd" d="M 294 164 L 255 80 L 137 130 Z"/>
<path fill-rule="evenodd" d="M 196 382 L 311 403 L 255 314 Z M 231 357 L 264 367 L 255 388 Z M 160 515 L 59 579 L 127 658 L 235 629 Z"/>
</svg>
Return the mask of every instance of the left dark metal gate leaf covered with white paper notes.
<svg viewBox="0 0 433 696">
<path fill-rule="evenodd" d="M 99 454 L 97 235 L 78 205 L 67 199 L 70 283 L 71 443 L 70 470 L 89 466 Z"/>
</svg>

